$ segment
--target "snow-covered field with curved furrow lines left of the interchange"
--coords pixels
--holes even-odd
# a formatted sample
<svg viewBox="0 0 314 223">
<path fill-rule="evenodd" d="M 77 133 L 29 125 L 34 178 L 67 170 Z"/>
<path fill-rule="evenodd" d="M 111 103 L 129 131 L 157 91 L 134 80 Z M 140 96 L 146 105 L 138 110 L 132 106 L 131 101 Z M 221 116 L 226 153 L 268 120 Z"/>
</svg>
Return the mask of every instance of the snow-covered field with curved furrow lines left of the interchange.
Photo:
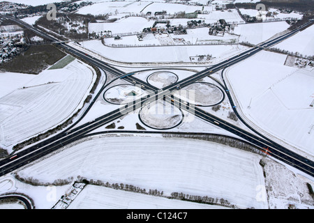
<svg viewBox="0 0 314 223">
<path fill-rule="evenodd" d="M 65 68 L 44 70 L 0 98 L 4 111 L 0 115 L 1 146 L 10 148 L 66 121 L 82 107 L 94 80 L 94 70 L 75 60 Z"/>
</svg>

